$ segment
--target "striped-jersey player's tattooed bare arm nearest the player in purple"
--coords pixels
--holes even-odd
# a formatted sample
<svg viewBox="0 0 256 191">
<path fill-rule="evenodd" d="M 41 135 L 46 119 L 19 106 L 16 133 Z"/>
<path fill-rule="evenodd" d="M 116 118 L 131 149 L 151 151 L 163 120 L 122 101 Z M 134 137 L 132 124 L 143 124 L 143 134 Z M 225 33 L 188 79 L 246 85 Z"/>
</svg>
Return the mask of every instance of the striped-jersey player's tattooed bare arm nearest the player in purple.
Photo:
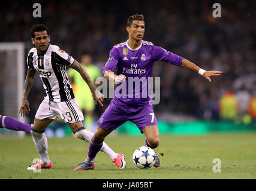
<svg viewBox="0 0 256 191">
<path fill-rule="evenodd" d="M 74 70 L 77 70 L 77 72 L 80 73 L 82 78 L 88 84 L 92 92 L 92 97 L 94 98 L 95 104 L 100 103 L 100 105 L 103 106 L 104 95 L 101 94 L 100 91 L 96 89 L 94 83 L 92 82 L 91 77 L 89 76 L 88 72 L 86 72 L 86 69 L 82 67 L 81 64 L 76 60 L 74 60 L 74 63 L 70 67 L 73 68 Z"/>
</svg>

